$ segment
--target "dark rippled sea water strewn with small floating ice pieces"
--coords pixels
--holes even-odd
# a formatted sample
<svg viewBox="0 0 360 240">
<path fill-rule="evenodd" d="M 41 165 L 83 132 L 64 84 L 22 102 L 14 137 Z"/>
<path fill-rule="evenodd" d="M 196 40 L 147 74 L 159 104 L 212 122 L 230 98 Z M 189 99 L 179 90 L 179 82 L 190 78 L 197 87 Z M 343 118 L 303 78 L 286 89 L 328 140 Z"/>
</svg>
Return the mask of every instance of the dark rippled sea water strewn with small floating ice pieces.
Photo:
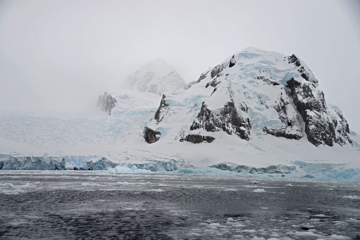
<svg viewBox="0 0 360 240">
<path fill-rule="evenodd" d="M 0 239 L 359 239 L 356 196 L 286 176 L 1 170 Z"/>
</svg>

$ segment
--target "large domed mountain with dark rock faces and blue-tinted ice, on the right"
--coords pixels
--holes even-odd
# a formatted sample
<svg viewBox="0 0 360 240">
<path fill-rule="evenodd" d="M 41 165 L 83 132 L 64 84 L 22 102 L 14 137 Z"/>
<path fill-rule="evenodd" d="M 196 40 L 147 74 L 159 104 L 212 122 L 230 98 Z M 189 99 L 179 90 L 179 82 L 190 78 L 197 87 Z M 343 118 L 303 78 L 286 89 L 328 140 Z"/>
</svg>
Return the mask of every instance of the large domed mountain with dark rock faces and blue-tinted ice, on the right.
<svg viewBox="0 0 360 240">
<path fill-rule="evenodd" d="M 184 125 L 178 137 L 192 143 L 223 141 L 233 134 L 249 141 L 269 134 L 296 140 L 306 136 L 315 146 L 352 145 L 346 119 L 327 107 L 318 80 L 296 55 L 248 47 L 203 72 L 186 91 L 192 88 L 195 94 L 202 93 L 201 108 L 198 102 L 185 104 L 189 93 L 163 97 L 158 110 L 163 112 L 162 122 L 154 119 L 147 131 L 153 129 L 159 137 L 158 128 L 169 128 L 173 117 L 181 117 Z M 177 106 L 186 105 L 196 115 L 192 111 L 179 115 Z"/>
</svg>

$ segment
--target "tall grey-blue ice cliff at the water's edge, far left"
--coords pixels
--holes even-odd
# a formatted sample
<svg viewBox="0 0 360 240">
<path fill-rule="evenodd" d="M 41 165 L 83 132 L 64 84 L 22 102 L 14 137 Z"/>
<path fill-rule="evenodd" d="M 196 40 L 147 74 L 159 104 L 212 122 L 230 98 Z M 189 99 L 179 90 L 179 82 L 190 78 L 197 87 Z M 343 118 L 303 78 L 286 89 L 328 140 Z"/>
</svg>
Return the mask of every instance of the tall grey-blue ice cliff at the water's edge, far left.
<svg viewBox="0 0 360 240">
<path fill-rule="evenodd" d="M 9 157 L 0 160 L 0 169 L 38 169 L 38 170 L 108 170 L 117 166 L 102 157 L 96 162 L 86 161 L 75 167 L 67 167 L 67 157 Z"/>
</svg>

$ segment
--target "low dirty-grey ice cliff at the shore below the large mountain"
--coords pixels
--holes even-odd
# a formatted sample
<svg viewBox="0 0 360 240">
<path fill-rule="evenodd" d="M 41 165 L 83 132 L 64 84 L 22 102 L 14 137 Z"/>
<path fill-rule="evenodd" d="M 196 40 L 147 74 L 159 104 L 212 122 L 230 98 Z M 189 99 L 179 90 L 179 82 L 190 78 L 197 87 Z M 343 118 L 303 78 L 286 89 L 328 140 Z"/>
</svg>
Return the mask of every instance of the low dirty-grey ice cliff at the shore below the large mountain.
<svg viewBox="0 0 360 240">
<path fill-rule="evenodd" d="M 215 167 L 221 170 L 229 170 L 234 172 L 249 172 L 249 173 L 290 173 L 296 170 L 295 166 L 285 166 L 285 165 L 270 165 L 267 167 L 249 167 L 245 165 L 231 164 L 227 165 L 226 163 L 219 163 L 217 165 L 212 165 L 210 167 Z"/>
</svg>

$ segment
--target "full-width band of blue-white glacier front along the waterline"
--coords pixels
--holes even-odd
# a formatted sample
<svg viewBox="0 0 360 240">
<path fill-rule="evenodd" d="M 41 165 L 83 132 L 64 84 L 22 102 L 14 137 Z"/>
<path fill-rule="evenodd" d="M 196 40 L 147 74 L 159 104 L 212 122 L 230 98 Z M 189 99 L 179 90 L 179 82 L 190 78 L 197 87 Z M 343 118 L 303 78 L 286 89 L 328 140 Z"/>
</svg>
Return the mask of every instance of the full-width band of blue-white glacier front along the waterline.
<svg viewBox="0 0 360 240">
<path fill-rule="evenodd" d="M 155 161 L 146 163 L 114 163 L 99 156 L 0 156 L 0 169 L 18 170 L 103 170 L 131 174 L 211 174 L 255 177 L 296 177 L 312 180 L 335 180 L 341 183 L 360 183 L 360 169 L 347 168 L 346 164 L 290 162 L 291 166 L 269 165 L 252 167 L 235 163 L 219 163 L 207 167 L 194 167 L 185 161 Z"/>
</svg>

